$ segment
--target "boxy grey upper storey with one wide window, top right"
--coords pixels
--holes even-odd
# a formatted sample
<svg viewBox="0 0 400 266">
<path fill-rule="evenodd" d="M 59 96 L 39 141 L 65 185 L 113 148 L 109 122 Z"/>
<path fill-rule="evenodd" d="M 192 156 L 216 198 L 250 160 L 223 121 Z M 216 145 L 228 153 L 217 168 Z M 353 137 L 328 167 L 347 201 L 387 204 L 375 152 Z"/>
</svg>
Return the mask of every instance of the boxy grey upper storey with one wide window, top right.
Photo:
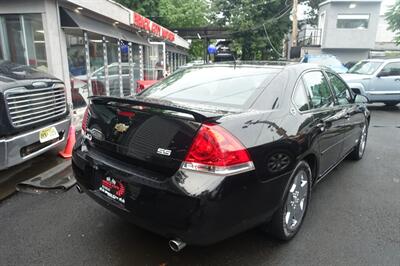
<svg viewBox="0 0 400 266">
<path fill-rule="evenodd" d="M 375 46 L 380 0 L 329 0 L 319 6 L 321 50 L 342 62 L 368 58 Z"/>
</svg>

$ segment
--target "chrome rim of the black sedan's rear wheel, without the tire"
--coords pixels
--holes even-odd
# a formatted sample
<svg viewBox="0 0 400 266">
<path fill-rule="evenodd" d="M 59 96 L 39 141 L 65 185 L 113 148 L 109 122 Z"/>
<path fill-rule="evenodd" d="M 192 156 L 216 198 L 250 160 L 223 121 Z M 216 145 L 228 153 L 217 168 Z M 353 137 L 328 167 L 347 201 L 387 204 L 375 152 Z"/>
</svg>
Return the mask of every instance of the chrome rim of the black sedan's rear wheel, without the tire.
<svg viewBox="0 0 400 266">
<path fill-rule="evenodd" d="M 287 230 L 294 231 L 303 219 L 308 203 L 308 176 L 300 170 L 293 179 L 285 204 L 284 224 Z"/>
</svg>

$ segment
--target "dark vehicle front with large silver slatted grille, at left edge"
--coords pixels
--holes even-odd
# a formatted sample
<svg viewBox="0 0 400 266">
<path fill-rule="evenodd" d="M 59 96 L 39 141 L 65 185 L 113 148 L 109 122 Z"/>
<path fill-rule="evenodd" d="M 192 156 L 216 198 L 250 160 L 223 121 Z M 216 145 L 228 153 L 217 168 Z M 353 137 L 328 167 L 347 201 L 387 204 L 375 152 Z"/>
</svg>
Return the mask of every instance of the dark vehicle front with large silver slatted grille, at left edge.
<svg viewBox="0 0 400 266">
<path fill-rule="evenodd" d="M 0 170 L 63 145 L 70 122 L 61 80 L 0 61 Z"/>
</svg>

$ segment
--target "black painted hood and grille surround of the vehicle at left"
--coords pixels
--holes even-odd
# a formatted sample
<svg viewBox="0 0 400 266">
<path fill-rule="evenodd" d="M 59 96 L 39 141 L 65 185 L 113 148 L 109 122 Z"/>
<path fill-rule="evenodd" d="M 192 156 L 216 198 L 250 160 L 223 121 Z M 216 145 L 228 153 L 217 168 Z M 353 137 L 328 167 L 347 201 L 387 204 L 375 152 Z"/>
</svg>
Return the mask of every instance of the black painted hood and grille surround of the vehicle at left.
<svg viewBox="0 0 400 266">
<path fill-rule="evenodd" d="M 8 109 L 6 108 L 6 91 L 17 87 L 25 87 L 34 90 L 36 87 L 32 84 L 38 82 L 43 83 L 43 85 L 46 84 L 46 86 L 51 86 L 52 84 L 63 84 L 63 82 L 56 77 L 45 72 L 37 71 L 33 67 L 19 65 L 8 61 L 0 62 L 0 137 L 11 137 L 21 132 L 30 131 L 51 122 L 59 121 L 69 115 L 69 108 L 67 108 L 65 114 L 38 122 L 35 125 L 18 128 L 12 125 Z"/>
</svg>

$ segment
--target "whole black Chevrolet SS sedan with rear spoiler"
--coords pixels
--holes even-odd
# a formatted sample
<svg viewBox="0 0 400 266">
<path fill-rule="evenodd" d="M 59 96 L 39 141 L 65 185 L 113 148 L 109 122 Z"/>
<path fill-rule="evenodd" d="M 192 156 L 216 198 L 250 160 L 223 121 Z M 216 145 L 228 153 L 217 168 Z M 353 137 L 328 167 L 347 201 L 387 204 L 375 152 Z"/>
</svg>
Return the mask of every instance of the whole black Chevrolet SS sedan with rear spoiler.
<svg viewBox="0 0 400 266">
<path fill-rule="evenodd" d="M 92 97 L 78 190 L 178 251 L 252 227 L 291 239 L 312 187 L 363 157 L 370 113 L 311 64 L 184 68 L 136 97 Z"/>
</svg>

